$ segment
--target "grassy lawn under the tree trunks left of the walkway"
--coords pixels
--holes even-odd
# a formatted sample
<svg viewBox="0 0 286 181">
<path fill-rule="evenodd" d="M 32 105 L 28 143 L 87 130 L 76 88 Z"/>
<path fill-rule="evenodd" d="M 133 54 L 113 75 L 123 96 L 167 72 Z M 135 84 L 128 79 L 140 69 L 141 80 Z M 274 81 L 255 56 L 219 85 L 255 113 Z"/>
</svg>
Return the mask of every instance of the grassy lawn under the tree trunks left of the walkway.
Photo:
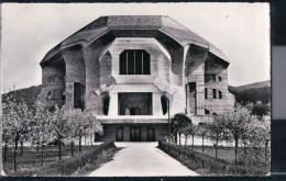
<svg viewBox="0 0 286 181">
<path fill-rule="evenodd" d="M 84 154 L 86 150 L 90 150 L 92 148 L 96 148 L 97 145 L 91 146 L 81 146 L 81 152 Z M 2 148 L 3 150 L 3 148 Z M 80 154 L 81 154 L 80 152 Z M 3 154 L 3 151 L 2 151 Z M 2 162 L 3 162 L 3 171 L 7 176 L 18 176 L 14 173 L 14 162 L 13 162 L 13 155 L 14 155 L 14 149 L 13 147 L 8 148 L 8 154 L 7 154 L 7 160 L 3 160 L 3 155 L 2 155 Z M 74 157 L 79 155 L 79 149 L 78 146 L 74 146 Z M 70 145 L 65 145 L 62 146 L 62 159 L 66 159 L 72 157 L 72 149 Z M 58 146 L 44 146 L 44 166 L 54 163 L 59 160 L 58 158 Z M 42 168 L 42 150 L 41 148 L 30 146 L 30 147 L 23 147 L 23 155 L 21 155 L 21 148 L 18 148 L 18 154 L 16 154 L 16 169 L 18 172 L 21 172 L 21 174 L 26 174 L 29 176 L 30 172 L 34 172 L 38 169 Z"/>
</svg>

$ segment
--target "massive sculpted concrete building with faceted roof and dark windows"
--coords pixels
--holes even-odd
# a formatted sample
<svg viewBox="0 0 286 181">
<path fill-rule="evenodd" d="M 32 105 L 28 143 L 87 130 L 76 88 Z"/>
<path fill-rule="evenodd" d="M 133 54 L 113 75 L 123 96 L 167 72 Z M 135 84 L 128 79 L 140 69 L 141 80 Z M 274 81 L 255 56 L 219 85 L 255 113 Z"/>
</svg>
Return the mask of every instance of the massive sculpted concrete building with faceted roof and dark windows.
<svg viewBox="0 0 286 181">
<path fill-rule="evenodd" d="M 167 135 L 168 110 L 199 123 L 234 105 L 228 66 L 168 16 L 101 16 L 45 55 L 40 99 L 90 111 L 101 139 L 157 140 Z"/>
</svg>

